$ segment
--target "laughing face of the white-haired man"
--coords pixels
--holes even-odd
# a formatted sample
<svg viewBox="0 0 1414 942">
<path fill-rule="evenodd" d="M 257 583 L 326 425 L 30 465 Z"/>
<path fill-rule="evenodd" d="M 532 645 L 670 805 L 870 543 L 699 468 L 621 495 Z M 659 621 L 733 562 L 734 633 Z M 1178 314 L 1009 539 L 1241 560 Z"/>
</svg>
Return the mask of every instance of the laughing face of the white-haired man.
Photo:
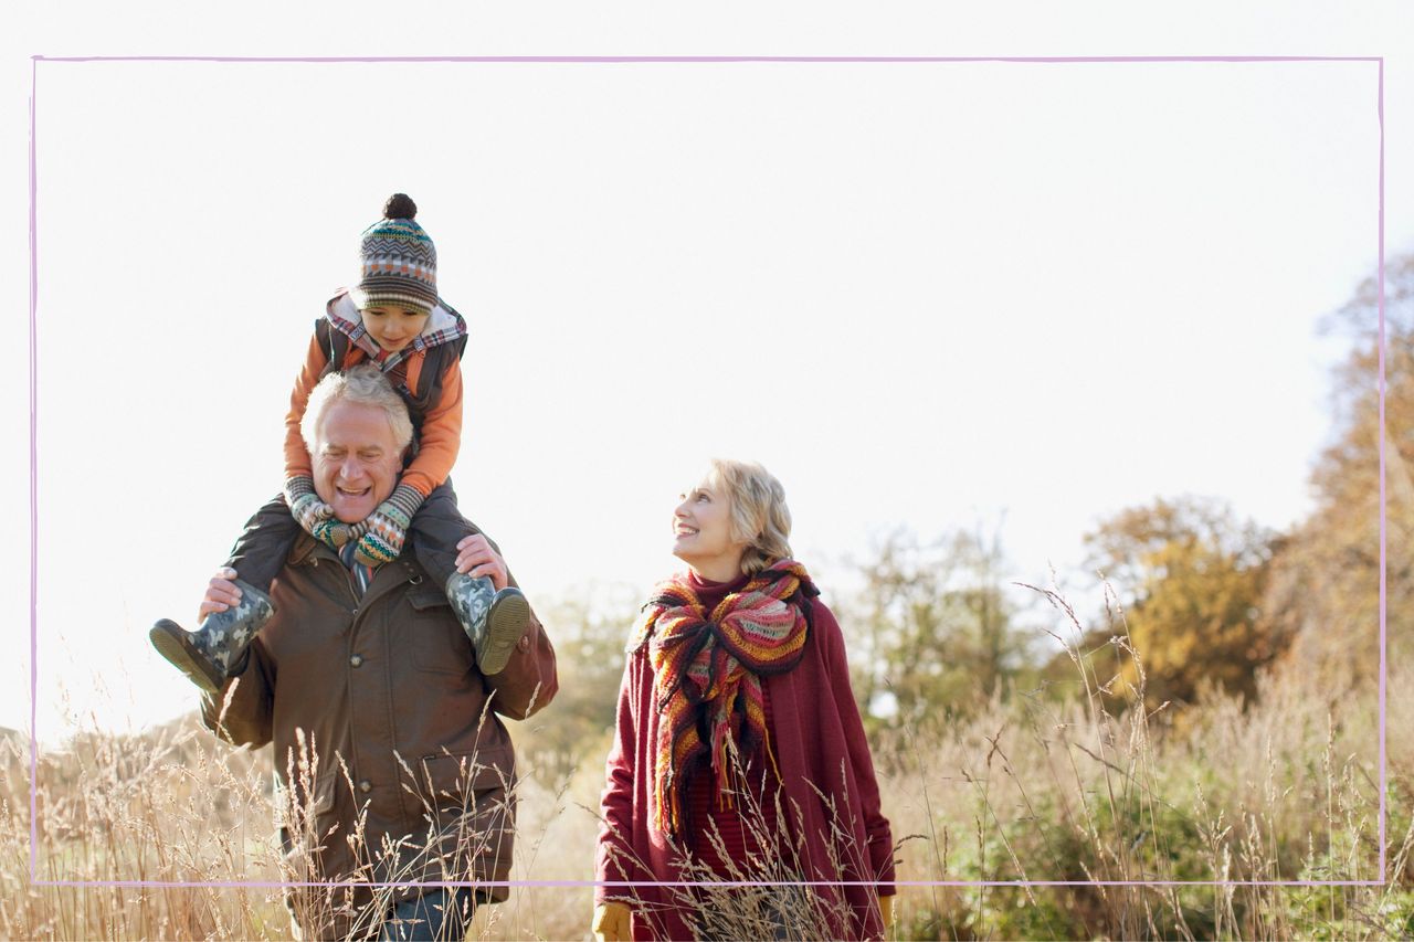
<svg viewBox="0 0 1414 942">
<path fill-rule="evenodd" d="M 397 487 L 402 457 L 386 412 L 337 402 L 325 410 L 314 443 L 314 491 L 339 521 L 358 523 Z"/>
</svg>

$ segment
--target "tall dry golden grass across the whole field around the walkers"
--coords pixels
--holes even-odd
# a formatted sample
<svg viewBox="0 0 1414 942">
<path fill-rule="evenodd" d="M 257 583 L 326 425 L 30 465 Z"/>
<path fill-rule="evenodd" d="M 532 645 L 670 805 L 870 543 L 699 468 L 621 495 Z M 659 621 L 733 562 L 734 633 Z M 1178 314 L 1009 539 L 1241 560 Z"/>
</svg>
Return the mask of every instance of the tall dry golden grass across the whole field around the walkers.
<svg viewBox="0 0 1414 942">
<path fill-rule="evenodd" d="M 1046 597 L 1060 621 L 1065 601 Z M 904 728 L 874 747 L 899 878 L 1080 881 L 1075 887 L 905 888 L 899 938 L 1408 938 L 1414 692 L 1390 678 L 1389 881 L 1377 877 L 1373 692 L 1349 678 L 1274 673 L 1260 700 L 1209 694 L 1179 716 L 1147 713 L 1114 682 L 1138 662 L 1116 612 L 1100 651 L 1072 649 L 1068 692 L 1015 692 L 971 719 Z M 1073 625 L 1077 628 L 1077 625 Z M 1079 636 L 1079 632 L 1073 632 Z M 1143 678 L 1143 670 L 1138 672 Z M 1143 680 L 1140 682 L 1143 685 Z M 533 724 L 554 721 L 554 707 Z M 534 728 L 513 730 L 522 745 Z M 607 743 L 604 744 L 607 745 Z M 168 939 L 290 936 L 279 888 L 82 887 L 30 881 L 25 743 L 0 743 L 0 936 Z M 533 754 L 526 748 L 523 754 Z M 591 880 L 604 748 L 546 782 L 522 765 L 513 880 Z M 274 839 L 269 750 L 218 743 L 195 720 L 141 737 L 76 734 L 40 760 L 44 881 L 273 883 L 291 873 Z M 468 835 L 474 840 L 475 835 Z M 1104 885 L 1114 881 L 1229 885 Z M 583 939 L 590 887 L 526 885 L 484 907 L 472 938 Z M 718 894 L 720 895 L 720 894 Z M 751 934 L 747 894 L 714 912 Z M 793 926 L 802 938 L 817 935 Z"/>
</svg>

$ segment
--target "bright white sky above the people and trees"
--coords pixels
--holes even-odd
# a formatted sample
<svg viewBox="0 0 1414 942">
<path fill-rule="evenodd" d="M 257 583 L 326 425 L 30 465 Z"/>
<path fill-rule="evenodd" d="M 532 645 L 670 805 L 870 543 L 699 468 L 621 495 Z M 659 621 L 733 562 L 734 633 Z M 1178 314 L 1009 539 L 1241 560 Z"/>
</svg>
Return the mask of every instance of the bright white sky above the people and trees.
<svg viewBox="0 0 1414 942">
<path fill-rule="evenodd" d="M 1383 54 L 1387 245 L 1410 250 L 1414 61 L 1390 38 L 1408 17 L 1282 8 L 1305 18 L 1099 37 L 998 8 L 973 41 L 923 7 L 749 41 L 626 14 L 536 41 L 503 14 L 386 48 L 311 20 L 194 40 L 31 13 L 0 133 L 23 153 L 33 54 Z M 1029 581 L 1073 573 L 1085 530 L 1157 495 L 1285 526 L 1343 354 L 1316 322 L 1377 259 L 1376 95 L 1373 62 L 41 62 L 40 737 L 191 709 L 147 627 L 191 620 L 277 489 L 312 320 L 395 190 L 471 325 L 462 508 L 532 600 L 672 571 L 669 513 L 707 454 L 778 474 L 827 587 L 898 525 L 1004 512 L 1007 577 Z M 13 229 L 0 553 L 21 658 L 0 726 L 27 728 L 18 211 Z"/>
</svg>

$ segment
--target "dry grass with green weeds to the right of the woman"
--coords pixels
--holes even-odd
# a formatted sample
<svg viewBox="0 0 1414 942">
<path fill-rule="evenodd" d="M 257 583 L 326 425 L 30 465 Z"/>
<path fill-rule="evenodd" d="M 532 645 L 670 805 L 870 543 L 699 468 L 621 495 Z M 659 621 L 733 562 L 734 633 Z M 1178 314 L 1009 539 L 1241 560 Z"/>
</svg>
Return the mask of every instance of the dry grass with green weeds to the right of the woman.
<svg viewBox="0 0 1414 942">
<path fill-rule="evenodd" d="M 1039 590 L 1038 590 L 1039 591 Z M 1065 601 L 1048 600 L 1080 625 Z M 1208 692 L 1145 711 L 1116 611 L 1109 645 L 1070 646 L 1072 690 L 1018 692 L 966 723 L 881 744 L 901 868 L 947 881 L 1083 881 L 905 894 L 901 938 L 1407 938 L 1414 932 L 1408 757 L 1414 697 L 1390 679 L 1389 881 L 1379 877 L 1374 692 L 1277 672 L 1243 704 Z M 1121 663 L 1138 689 L 1124 689 Z M 939 876 L 942 874 L 942 876 Z M 1229 885 L 1104 885 L 1109 883 Z"/>
</svg>

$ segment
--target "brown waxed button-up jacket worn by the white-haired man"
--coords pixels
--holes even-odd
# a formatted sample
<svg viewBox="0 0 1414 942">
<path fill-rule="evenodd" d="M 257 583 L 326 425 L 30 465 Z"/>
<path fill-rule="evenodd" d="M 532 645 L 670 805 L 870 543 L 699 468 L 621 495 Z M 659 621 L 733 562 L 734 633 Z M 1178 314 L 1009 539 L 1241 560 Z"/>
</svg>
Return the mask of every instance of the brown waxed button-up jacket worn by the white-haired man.
<svg viewBox="0 0 1414 942">
<path fill-rule="evenodd" d="M 236 744 L 274 743 L 287 890 L 304 938 L 376 934 L 417 887 L 505 881 L 515 836 L 515 751 L 501 716 L 523 720 L 557 689 L 540 621 L 485 678 L 471 641 L 411 549 L 363 598 L 348 569 L 301 535 L 271 587 L 276 614 L 205 724 Z M 501 901 L 506 887 L 484 887 Z"/>
</svg>

